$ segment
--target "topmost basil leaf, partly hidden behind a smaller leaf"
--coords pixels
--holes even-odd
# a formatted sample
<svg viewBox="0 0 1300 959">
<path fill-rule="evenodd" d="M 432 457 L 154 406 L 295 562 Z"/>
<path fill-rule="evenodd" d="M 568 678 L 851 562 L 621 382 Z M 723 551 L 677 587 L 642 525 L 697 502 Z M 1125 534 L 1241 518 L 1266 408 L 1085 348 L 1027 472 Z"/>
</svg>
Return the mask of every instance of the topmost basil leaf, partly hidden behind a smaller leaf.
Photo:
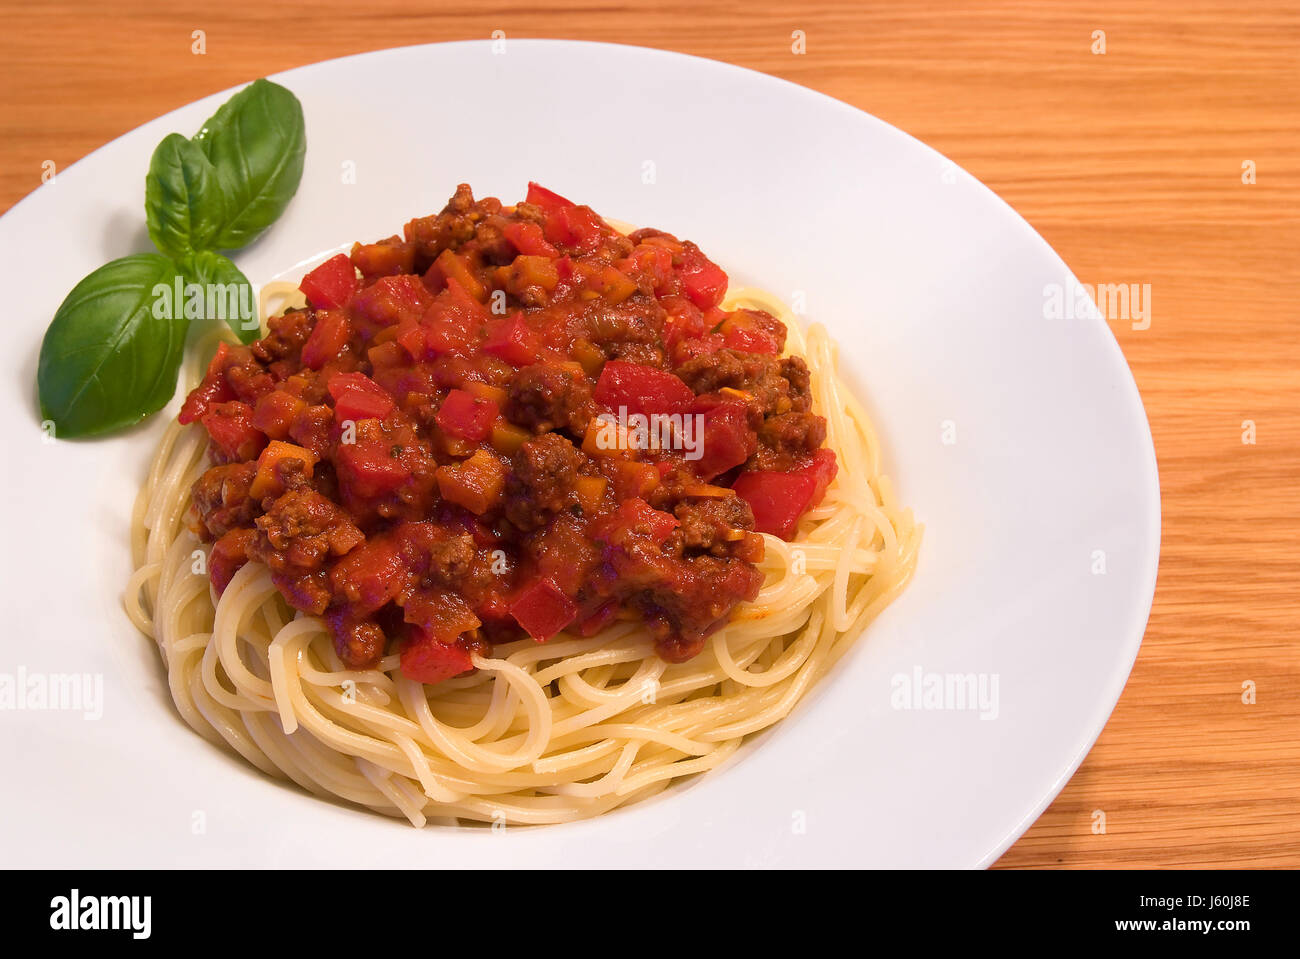
<svg viewBox="0 0 1300 959">
<path fill-rule="evenodd" d="M 285 212 L 303 178 L 302 104 L 278 83 L 254 81 L 212 114 L 194 142 L 226 196 L 225 222 L 211 246 L 247 246 Z"/>
</svg>

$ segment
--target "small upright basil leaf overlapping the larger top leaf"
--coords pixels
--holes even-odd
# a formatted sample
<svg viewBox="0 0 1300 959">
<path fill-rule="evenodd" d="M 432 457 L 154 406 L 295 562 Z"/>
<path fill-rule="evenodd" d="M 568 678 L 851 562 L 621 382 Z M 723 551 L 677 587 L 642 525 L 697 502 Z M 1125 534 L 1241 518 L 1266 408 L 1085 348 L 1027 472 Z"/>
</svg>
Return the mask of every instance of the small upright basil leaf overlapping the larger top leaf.
<svg viewBox="0 0 1300 959">
<path fill-rule="evenodd" d="M 172 257 L 211 248 L 225 225 L 225 207 L 217 169 L 203 148 L 181 134 L 166 136 L 153 151 L 144 178 L 144 214 L 153 246 Z"/>
</svg>

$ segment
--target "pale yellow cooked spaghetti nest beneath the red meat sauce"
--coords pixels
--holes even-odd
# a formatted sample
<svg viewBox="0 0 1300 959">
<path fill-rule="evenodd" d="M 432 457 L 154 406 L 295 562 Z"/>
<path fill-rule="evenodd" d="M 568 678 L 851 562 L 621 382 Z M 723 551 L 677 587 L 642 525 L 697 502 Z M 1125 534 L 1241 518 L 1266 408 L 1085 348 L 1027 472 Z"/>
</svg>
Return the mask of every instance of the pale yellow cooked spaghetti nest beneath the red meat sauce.
<svg viewBox="0 0 1300 959">
<path fill-rule="evenodd" d="M 348 669 L 325 622 L 290 608 L 264 565 L 247 563 L 216 595 L 209 547 L 185 522 L 207 435 L 173 422 L 135 504 L 125 606 L 157 643 L 181 716 L 270 776 L 417 826 L 580 820 L 724 763 L 900 594 L 920 541 L 826 330 L 802 334 L 760 291 L 728 296 L 742 305 L 789 327 L 841 468 L 790 542 L 764 535 L 762 591 L 698 656 L 666 663 L 642 624 L 616 621 L 590 638 L 498 645 L 433 686 L 404 677 L 396 654 Z"/>
</svg>

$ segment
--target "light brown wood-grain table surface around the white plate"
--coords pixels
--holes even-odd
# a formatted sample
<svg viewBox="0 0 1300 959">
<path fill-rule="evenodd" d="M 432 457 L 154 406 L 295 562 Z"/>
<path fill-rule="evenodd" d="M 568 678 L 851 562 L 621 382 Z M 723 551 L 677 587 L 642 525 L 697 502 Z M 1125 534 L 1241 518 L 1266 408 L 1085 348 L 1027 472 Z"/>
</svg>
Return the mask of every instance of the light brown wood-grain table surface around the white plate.
<svg viewBox="0 0 1300 959">
<path fill-rule="evenodd" d="M 1150 625 L 1096 747 L 1000 864 L 1300 864 L 1294 4 L 663 0 L 618 13 L 562 0 L 537 13 L 482 0 L 424 14 L 317 0 L 311 18 L 268 0 L 183 6 L 5 0 L 0 208 L 39 186 L 44 161 L 61 169 L 225 87 L 503 30 L 676 49 L 820 90 L 988 183 L 1082 282 L 1149 283 L 1149 329 L 1112 327 L 1160 456 Z M 1095 810 L 1105 834 L 1092 832 Z"/>
</svg>

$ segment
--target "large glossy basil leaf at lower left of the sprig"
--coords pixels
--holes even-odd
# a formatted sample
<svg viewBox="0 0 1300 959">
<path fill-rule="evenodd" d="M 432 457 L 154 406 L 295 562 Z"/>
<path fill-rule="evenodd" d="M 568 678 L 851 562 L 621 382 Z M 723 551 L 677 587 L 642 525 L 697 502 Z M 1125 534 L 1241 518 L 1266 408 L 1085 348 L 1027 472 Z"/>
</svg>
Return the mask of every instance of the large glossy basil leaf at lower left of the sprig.
<svg viewBox="0 0 1300 959">
<path fill-rule="evenodd" d="M 82 279 L 40 344 L 40 415 L 56 437 L 130 426 L 176 392 L 187 322 L 173 309 L 176 264 L 139 253 Z M 168 291 L 168 292 L 164 292 Z"/>
</svg>

